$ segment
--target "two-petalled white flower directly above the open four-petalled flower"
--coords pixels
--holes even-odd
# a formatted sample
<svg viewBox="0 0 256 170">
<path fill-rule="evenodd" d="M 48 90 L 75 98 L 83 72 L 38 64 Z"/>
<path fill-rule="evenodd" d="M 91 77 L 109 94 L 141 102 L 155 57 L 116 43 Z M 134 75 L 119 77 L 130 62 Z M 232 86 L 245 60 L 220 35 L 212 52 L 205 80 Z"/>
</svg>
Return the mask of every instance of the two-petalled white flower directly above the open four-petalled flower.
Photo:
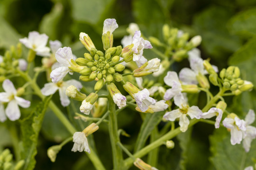
<svg viewBox="0 0 256 170">
<path fill-rule="evenodd" d="M 168 71 L 167 75 L 164 77 L 164 82 L 166 85 L 169 85 L 170 87 L 172 87 L 166 90 L 164 95 L 165 100 L 170 100 L 175 95 L 178 95 L 182 92 L 182 85 L 175 71 Z"/>
</svg>

